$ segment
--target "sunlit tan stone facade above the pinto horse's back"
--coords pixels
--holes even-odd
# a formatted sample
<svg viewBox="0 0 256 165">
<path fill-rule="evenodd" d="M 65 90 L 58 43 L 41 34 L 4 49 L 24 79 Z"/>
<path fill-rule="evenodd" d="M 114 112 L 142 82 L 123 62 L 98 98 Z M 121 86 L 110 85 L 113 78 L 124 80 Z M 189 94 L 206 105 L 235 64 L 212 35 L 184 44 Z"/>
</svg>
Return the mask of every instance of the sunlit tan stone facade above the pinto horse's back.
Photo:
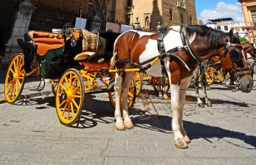
<svg viewBox="0 0 256 165">
<path fill-rule="evenodd" d="M 194 0 L 110 0 L 108 18 L 155 30 L 158 22 L 167 26 L 197 24 Z"/>
</svg>

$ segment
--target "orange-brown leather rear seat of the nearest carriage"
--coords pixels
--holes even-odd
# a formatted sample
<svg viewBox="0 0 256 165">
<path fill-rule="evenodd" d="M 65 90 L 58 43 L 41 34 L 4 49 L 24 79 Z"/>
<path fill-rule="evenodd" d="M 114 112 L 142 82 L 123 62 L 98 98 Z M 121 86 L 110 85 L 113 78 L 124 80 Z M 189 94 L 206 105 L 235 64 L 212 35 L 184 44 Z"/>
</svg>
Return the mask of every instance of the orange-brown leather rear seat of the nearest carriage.
<svg viewBox="0 0 256 165">
<path fill-rule="evenodd" d="M 36 31 L 29 31 L 28 34 L 38 46 L 38 55 L 46 55 L 49 49 L 58 49 L 64 44 L 64 38 L 60 34 Z"/>
</svg>

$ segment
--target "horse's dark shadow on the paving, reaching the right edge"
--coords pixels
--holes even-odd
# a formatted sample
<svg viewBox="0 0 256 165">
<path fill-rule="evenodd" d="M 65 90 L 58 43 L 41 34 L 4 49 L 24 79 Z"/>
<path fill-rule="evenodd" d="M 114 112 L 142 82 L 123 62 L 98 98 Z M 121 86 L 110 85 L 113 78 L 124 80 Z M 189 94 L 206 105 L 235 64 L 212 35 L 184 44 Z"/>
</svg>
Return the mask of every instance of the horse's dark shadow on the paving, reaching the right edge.
<svg viewBox="0 0 256 165">
<path fill-rule="evenodd" d="M 131 118 L 135 127 L 141 127 L 147 130 L 158 131 L 162 133 L 172 133 L 170 116 L 136 116 Z M 233 144 L 236 147 L 245 148 L 248 150 L 256 150 L 256 136 L 247 136 L 245 133 L 240 133 L 232 130 L 225 130 L 221 127 L 210 126 L 207 124 L 201 124 L 196 122 L 183 121 L 184 129 L 187 131 L 187 135 L 190 140 L 204 138 L 206 141 L 213 143 L 210 138 L 224 139 L 229 144 Z M 244 147 L 241 142 L 233 141 L 232 139 L 244 141 L 252 147 Z"/>
</svg>

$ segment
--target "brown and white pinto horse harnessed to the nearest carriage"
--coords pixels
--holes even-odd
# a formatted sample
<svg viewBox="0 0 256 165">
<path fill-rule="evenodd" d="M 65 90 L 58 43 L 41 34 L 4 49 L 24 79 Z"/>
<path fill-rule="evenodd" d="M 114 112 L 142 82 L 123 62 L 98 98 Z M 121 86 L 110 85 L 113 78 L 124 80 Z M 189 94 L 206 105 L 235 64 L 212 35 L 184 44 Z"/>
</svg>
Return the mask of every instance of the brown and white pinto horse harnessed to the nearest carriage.
<svg viewBox="0 0 256 165">
<path fill-rule="evenodd" d="M 184 35 L 181 34 L 184 34 L 185 38 L 187 38 L 185 40 L 187 44 L 184 43 Z M 161 58 L 158 49 L 158 36 L 157 33 L 151 32 L 128 31 L 123 33 L 114 43 L 114 56 L 111 59 L 111 66 L 122 70 L 135 68 L 134 66 L 137 66 L 135 64 L 143 64 L 143 66 L 148 66 L 146 67 L 148 74 L 154 77 L 162 77 L 162 67 L 159 60 L 152 66 L 146 64 L 150 63 L 150 59 L 153 57 Z M 168 56 L 163 59 L 167 76 L 170 80 L 171 105 L 173 110 L 172 130 L 176 147 L 187 148 L 187 143 L 190 142 L 190 138 L 188 138 L 183 127 L 183 108 L 187 85 L 193 76 L 193 71 L 198 66 L 198 61 L 209 59 L 213 55 L 222 55 L 222 52 L 220 52 L 221 48 L 225 50 L 236 48 L 230 46 L 228 38 L 226 33 L 205 26 L 187 26 L 180 29 L 170 28 L 164 32 L 163 43 L 165 50 L 168 52 L 168 50 L 177 48 L 173 52 L 173 55 L 176 55 L 176 57 Z M 190 47 L 189 50 L 187 50 L 188 47 Z M 226 69 L 232 69 L 229 51 L 226 51 L 224 54 L 224 57 L 221 58 L 224 61 L 223 66 Z M 235 64 L 235 67 L 244 68 L 246 67 L 246 63 Z M 126 98 L 133 76 L 134 72 L 122 71 L 116 74 L 114 81 L 116 96 L 114 117 L 116 119 L 115 125 L 117 130 L 134 127 L 128 116 Z M 253 81 L 250 74 L 241 74 L 240 82 L 241 91 L 249 92 L 252 90 Z"/>
</svg>

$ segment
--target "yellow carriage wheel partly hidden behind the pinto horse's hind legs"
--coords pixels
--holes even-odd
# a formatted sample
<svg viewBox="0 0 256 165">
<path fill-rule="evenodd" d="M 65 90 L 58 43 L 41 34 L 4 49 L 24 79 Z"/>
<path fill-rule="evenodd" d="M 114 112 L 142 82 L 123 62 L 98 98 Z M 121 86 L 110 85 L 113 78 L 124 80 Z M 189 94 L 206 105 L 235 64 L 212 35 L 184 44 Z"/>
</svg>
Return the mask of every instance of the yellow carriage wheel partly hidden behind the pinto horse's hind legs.
<svg viewBox="0 0 256 165">
<path fill-rule="evenodd" d="M 129 88 L 129 91 L 128 91 L 128 108 L 130 109 L 131 107 L 133 107 L 134 105 L 134 102 L 135 102 L 135 99 L 136 99 L 136 85 L 135 85 L 135 80 L 133 79 L 131 81 L 131 85 L 130 85 L 130 88 Z M 116 107 L 116 99 L 115 99 L 115 96 L 114 96 L 114 91 L 110 91 L 108 92 L 108 98 L 109 98 L 109 101 L 112 105 L 112 107 L 115 109 Z"/>
</svg>

